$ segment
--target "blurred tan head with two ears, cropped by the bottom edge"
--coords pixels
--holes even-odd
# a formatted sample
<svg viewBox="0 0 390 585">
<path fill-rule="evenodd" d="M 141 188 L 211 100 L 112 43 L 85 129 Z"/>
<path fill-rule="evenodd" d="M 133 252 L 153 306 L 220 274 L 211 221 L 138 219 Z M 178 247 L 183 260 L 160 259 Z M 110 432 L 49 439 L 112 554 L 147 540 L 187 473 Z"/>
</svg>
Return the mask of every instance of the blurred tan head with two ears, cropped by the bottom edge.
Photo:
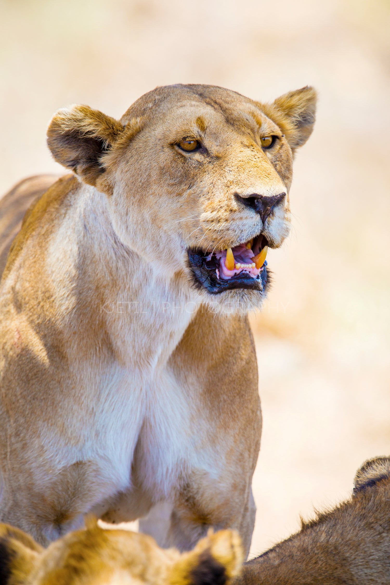
<svg viewBox="0 0 390 585">
<path fill-rule="evenodd" d="M 28 535 L 0 524 L 2 585 L 219 585 L 229 584 L 243 560 L 237 532 L 220 531 L 182 555 L 150 536 L 126 529 L 71 532 L 46 550 Z"/>
</svg>

